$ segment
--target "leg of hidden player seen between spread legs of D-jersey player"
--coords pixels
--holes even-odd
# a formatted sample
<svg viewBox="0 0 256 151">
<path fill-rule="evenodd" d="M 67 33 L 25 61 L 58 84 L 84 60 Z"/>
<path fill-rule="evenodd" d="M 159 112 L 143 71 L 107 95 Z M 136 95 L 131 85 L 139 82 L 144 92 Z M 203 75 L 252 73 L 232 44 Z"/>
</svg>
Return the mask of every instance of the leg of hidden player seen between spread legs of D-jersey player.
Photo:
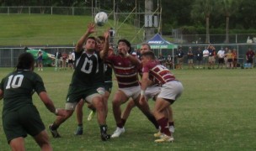
<svg viewBox="0 0 256 151">
<path fill-rule="evenodd" d="M 76 114 L 77 114 L 77 130 L 74 133 L 75 135 L 82 135 L 83 134 L 83 99 L 77 103 L 76 107 Z"/>
</svg>

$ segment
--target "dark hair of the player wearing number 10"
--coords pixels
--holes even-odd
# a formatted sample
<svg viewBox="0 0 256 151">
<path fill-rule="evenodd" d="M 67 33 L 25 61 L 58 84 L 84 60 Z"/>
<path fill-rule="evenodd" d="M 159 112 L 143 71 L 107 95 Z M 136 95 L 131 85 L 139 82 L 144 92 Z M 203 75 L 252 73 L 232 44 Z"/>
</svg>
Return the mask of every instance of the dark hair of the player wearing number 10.
<svg viewBox="0 0 256 151">
<path fill-rule="evenodd" d="M 17 70 L 29 70 L 35 64 L 34 56 L 30 53 L 23 53 L 19 55 Z"/>
</svg>

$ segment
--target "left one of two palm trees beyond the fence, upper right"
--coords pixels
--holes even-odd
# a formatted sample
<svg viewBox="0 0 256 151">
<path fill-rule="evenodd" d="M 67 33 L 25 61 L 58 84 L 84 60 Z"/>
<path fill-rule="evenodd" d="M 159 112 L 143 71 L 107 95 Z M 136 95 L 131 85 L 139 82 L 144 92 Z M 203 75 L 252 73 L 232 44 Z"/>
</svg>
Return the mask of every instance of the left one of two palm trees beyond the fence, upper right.
<svg viewBox="0 0 256 151">
<path fill-rule="evenodd" d="M 206 39 L 205 44 L 210 43 L 210 16 L 213 12 L 213 8 L 216 1 L 213 0 L 195 0 L 192 6 L 191 17 L 192 18 L 205 18 L 206 24 Z"/>
</svg>

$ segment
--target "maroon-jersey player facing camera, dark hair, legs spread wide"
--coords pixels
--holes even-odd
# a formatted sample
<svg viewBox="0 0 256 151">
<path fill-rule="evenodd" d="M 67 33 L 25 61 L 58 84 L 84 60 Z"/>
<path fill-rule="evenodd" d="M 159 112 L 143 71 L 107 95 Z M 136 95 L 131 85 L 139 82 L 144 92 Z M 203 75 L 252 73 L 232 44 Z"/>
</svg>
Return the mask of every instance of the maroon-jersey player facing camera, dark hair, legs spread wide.
<svg viewBox="0 0 256 151">
<path fill-rule="evenodd" d="M 120 106 L 127 102 L 130 97 L 134 100 L 136 106 L 140 108 L 141 112 L 143 112 L 154 125 L 157 125 L 157 121 L 150 112 L 147 101 L 139 104 L 141 86 L 139 85 L 137 68 L 141 65 L 141 61 L 130 55 L 128 53 L 129 51 L 131 51 L 130 42 L 126 39 L 120 39 L 118 41 L 118 54 L 108 56 L 106 60 L 112 66 L 119 86 L 119 90 L 115 92 L 112 102 L 117 126 L 111 136 L 112 138 L 118 138 L 121 133 L 125 133 L 124 121 L 121 119 Z"/>
</svg>

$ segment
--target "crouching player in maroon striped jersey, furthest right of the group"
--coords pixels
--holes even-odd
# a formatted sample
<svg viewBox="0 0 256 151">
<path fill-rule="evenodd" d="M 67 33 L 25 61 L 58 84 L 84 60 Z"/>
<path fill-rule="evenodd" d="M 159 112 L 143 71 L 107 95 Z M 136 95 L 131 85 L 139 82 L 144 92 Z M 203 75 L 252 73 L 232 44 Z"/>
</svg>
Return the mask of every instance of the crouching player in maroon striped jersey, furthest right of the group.
<svg viewBox="0 0 256 151">
<path fill-rule="evenodd" d="M 162 134 L 159 135 L 159 139 L 155 140 L 155 142 L 173 142 L 173 136 L 168 129 L 168 118 L 166 115 L 168 115 L 168 107 L 181 95 L 184 88 L 181 82 L 165 66 L 159 64 L 153 52 L 143 53 L 141 55 L 141 63 L 143 65 L 143 75 L 140 102 L 144 102 L 143 100 L 146 99 L 145 91 L 147 86 L 152 85 L 152 82 L 162 86 L 154 107 L 154 116 L 161 128 L 160 132 Z M 155 81 L 150 81 L 149 76 L 153 76 Z"/>
</svg>

